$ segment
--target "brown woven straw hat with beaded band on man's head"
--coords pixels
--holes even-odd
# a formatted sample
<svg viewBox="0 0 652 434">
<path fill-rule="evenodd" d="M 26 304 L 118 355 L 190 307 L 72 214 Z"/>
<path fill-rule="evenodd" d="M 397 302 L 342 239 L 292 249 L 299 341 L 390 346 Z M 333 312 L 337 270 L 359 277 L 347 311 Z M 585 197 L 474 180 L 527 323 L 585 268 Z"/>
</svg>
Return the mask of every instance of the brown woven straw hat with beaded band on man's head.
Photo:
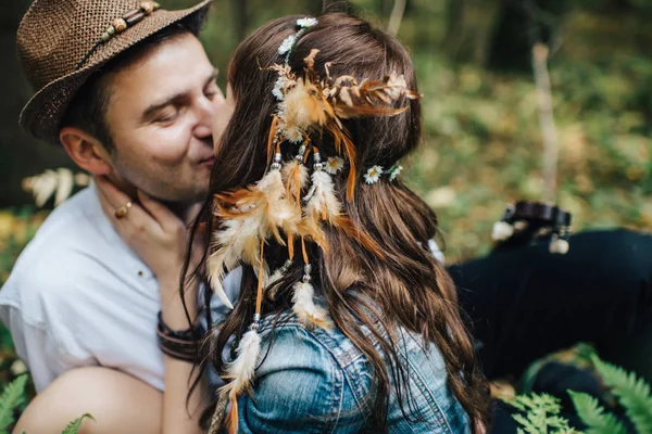
<svg viewBox="0 0 652 434">
<path fill-rule="evenodd" d="M 141 0 L 36 0 L 16 35 L 25 74 L 37 89 L 21 113 L 21 126 L 59 143 L 63 115 L 93 72 L 173 23 L 195 14 L 201 23 L 210 2 L 166 11 Z"/>
</svg>

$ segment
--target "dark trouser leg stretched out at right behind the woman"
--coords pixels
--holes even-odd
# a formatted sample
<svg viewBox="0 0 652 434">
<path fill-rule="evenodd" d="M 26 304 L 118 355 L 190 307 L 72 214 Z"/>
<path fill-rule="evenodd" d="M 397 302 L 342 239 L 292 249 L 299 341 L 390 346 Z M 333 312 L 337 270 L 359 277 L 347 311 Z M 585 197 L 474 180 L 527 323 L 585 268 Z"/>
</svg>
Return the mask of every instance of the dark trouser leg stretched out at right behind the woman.
<svg viewBox="0 0 652 434">
<path fill-rule="evenodd" d="M 462 310 L 489 379 L 578 342 L 652 380 L 652 237 L 626 231 L 572 237 L 454 265 Z"/>
</svg>

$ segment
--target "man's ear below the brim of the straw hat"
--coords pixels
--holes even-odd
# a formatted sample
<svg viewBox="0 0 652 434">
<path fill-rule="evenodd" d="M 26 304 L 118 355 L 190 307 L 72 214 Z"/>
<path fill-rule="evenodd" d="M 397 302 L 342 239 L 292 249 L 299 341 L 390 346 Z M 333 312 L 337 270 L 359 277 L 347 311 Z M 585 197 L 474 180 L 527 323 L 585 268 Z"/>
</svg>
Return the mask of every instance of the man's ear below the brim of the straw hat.
<svg viewBox="0 0 652 434">
<path fill-rule="evenodd" d="M 71 158 L 91 175 L 113 173 L 111 155 L 98 139 L 76 127 L 65 127 L 59 132 L 59 140 Z"/>
</svg>

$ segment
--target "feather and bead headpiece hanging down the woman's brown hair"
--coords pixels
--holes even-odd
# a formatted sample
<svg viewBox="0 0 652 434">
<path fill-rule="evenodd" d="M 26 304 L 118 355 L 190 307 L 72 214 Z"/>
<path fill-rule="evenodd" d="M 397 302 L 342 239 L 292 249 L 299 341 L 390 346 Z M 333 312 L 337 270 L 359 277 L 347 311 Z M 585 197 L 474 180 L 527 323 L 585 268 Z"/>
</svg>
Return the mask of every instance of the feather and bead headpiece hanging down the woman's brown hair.
<svg viewBox="0 0 652 434">
<path fill-rule="evenodd" d="M 269 169 L 253 186 L 214 196 L 214 214 L 221 226 L 213 233 L 212 254 L 208 259 L 211 286 L 224 304 L 233 308 L 222 286 L 225 271 L 244 263 L 258 270 L 259 281 L 253 322 L 240 339 L 235 360 L 227 365 L 223 376 L 230 381 L 220 390 L 221 405 L 211 427 L 221 426 L 228 401 L 230 408 L 226 424 L 229 434 L 238 432 L 238 399 L 243 393 L 251 392 L 255 378 L 262 346 L 259 328 L 264 288 L 277 282 L 291 267 L 294 239 L 301 238 L 304 275 L 292 286 L 292 310 L 309 328 L 329 328 L 331 322 L 327 310 L 315 303 L 306 240 L 326 251 L 328 246 L 324 228 L 329 226 L 384 257 L 374 241 L 343 215 L 334 181 L 324 170 L 319 151 L 312 144 L 311 137 L 329 135 L 333 138 L 338 155 L 334 156 L 336 159 L 328 166 L 328 171 L 337 174 L 347 165 L 346 199 L 351 202 L 358 181 L 358 151 L 342 120 L 394 116 L 408 108 L 406 105 L 397 105 L 421 98 L 408 89 L 404 77 L 396 73 L 379 80 L 365 79 L 359 82 L 351 76 L 333 77 L 331 64 L 326 63 L 325 77 L 321 77 L 315 69 L 315 58 L 319 52 L 316 49 L 311 50 L 303 60 L 305 67 L 301 74 L 292 72 L 289 66 L 291 51 L 298 39 L 315 24 L 317 21 L 314 18 L 299 20 L 298 31 L 286 38 L 278 49 L 278 53 L 285 56 L 285 63 L 269 67 L 278 75 L 272 90 L 277 108 L 272 116 L 267 139 L 267 161 L 272 162 L 274 157 Z M 299 148 L 294 158 L 285 167 L 281 165 L 280 150 L 284 142 Z M 310 152 L 313 152 L 312 174 L 305 167 Z M 302 199 L 309 181 L 311 188 Z M 268 240 L 286 245 L 289 257 L 272 277 L 268 277 L 264 260 L 264 246 Z M 268 291 L 267 296 L 274 298 L 275 294 Z"/>
</svg>

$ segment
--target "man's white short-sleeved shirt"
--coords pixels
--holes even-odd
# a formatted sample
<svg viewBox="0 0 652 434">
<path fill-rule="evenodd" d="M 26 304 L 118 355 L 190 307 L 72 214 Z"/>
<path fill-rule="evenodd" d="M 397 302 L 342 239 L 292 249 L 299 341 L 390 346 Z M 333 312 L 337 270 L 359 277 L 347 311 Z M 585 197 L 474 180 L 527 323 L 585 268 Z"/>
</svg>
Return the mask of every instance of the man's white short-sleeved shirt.
<svg viewBox="0 0 652 434">
<path fill-rule="evenodd" d="M 91 186 L 50 214 L 0 291 L 0 319 L 37 392 L 66 370 L 93 365 L 162 391 L 159 285 L 113 229 L 97 194 Z M 230 282 L 225 289 L 233 299 L 238 285 Z M 214 315 L 226 312 L 211 305 Z"/>
</svg>

